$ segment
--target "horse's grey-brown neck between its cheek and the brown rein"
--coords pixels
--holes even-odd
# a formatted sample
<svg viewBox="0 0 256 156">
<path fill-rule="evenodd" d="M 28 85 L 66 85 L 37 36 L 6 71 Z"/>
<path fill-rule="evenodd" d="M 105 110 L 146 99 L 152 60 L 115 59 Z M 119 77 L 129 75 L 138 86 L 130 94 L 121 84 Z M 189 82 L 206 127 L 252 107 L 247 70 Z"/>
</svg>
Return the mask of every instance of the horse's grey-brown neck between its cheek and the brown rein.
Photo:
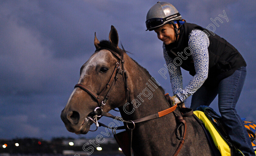
<svg viewBox="0 0 256 156">
<path fill-rule="evenodd" d="M 125 70 L 128 74 L 129 100 L 126 110 L 120 113 L 125 120 L 135 120 L 169 108 L 160 84 L 143 67 L 135 63 L 128 55 L 124 55 Z M 136 108 L 137 107 L 137 108 Z"/>
</svg>

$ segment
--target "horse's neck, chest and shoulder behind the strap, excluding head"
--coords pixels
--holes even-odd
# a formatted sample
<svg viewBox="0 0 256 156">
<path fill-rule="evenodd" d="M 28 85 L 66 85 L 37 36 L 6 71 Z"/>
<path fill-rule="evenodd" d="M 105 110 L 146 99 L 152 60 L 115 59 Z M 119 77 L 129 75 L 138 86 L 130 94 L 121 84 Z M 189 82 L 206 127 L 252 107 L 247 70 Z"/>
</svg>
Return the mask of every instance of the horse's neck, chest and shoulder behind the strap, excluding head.
<svg viewBox="0 0 256 156">
<path fill-rule="evenodd" d="M 128 100 L 129 104 L 126 106 L 126 109 L 129 111 L 134 109 L 134 111 L 131 114 L 127 114 L 123 110 L 123 106 L 119 107 L 123 119 L 136 120 L 168 109 L 169 105 L 165 99 L 163 91 L 158 85 L 156 85 L 158 88 L 153 88 L 153 85 L 148 81 L 152 80 L 151 76 L 137 63 L 130 59 L 130 57 L 126 58 L 125 63 L 125 70 L 128 74 L 128 86 L 130 90 Z M 147 83 L 151 85 L 154 91 L 151 90 Z M 153 83 L 155 84 L 155 82 Z M 143 95 L 143 90 L 146 88 L 152 93 L 151 99 Z M 140 96 L 143 102 L 138 98 L 138 96 Z M 132 101 L 134 101 L 134 99 L 137 99 L 137 101 L 140 102 L 140 105 L 137 108 L 133 108 L 134 102 Z M 181 115 L 179 109 L 174 110 L 174 112 L 177 115 Z M 184 144 L 179 155 L 191 154 L 191 148 L 194 149 L 193 147 L 196 147 L 198 150 L 196 153 L 201 153 L 199 155 L 203 155 L 206 152 L 208 152 L 206 155 L 212 154 L 210 147 L 207 144 L 205 134 L 201 130 L 201 126 L 197 121 L 193 118 L 187 117 L 186 123 L 187 127 L 190 127 L 187 129 L 186 137 L 187 143 L 189 144 Z M 176 126 L 176 119 L 173 113 L 169 113 L 157 119 L 135 124 L 135 129 L 132 132 L 132 148 L 134 155 L 174 154 L 180 144 L 180 140 L 176 139 L 175 136 Z M 193 136 L 200 137 L 197 137 L 195 141 Z M 209 151 L 211 153 L 209 153 Z M 195 151 L 192 153 L 194 154 Z"/>
</svg>

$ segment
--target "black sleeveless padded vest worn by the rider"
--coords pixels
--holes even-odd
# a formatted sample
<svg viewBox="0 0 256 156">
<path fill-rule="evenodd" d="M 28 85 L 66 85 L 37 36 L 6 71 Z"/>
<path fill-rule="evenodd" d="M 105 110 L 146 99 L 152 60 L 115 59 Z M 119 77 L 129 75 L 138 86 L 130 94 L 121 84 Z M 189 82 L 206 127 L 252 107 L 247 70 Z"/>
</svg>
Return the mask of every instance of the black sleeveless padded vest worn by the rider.
<svg viewBox="0 0 256 156">
<path fill-rule="evenodd" d="M 191 55 L 187 56 L 184 53 L 184 49 L 188 47 L 188 37 L 193 29 L 200 29 L 207 32 L 210 41 L 208 46 L 209 71 L 208 78 L 204 82 L 204 85 L 214 86 L 218 84 L 220 80 L 232 75 L 235 70 L 241 66 L 246 66 L 241 54 L 225 39 L 216 34 L 213 35 L 212 32 L 208 31 L 208 29 L 204 29 L 199 25 L 186 22 L 180 27 L 179 39 L 175 43 L 165 45 L 165 48 L 172 59 L 179 57 L 182 60 L 182 64 L 180 66 L 184 70 L 189 71 L 190 75 L 194 76 L 196 74 L 194 61 Z M 191 49 L 193 52 L 193 48 Z M 184 60 L 178 55 L 178 52 L 183 52 L 183 58 L 188 58 Z M 190 50 L 187 49 L 186 52 L 190 53 Z"/>
</svg>

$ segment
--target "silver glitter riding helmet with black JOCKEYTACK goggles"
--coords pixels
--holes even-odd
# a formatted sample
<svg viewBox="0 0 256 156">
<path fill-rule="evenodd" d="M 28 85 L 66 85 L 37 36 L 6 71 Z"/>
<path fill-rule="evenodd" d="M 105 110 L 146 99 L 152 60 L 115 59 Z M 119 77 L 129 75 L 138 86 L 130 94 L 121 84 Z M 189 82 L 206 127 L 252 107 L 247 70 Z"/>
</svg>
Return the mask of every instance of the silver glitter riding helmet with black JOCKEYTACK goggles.
<svg viewBox="0 0 256 156">
<path fill-rule="evenodd" d="M 167 2 L 157 2 L 148 11 L 146 27 L 147 30 L 152 31 L 155 28 L 165 25 L 173 20 L 181 19 L 182 17 L 180 13 L 173 5 Z"/>
</svg>

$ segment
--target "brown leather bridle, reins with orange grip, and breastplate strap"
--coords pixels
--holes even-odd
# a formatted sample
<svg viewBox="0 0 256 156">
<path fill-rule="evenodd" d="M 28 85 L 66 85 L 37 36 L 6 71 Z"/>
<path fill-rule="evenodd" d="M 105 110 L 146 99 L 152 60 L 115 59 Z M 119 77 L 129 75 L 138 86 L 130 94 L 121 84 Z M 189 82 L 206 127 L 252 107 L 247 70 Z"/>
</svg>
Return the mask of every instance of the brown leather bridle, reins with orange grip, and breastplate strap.
<svg viewBox="0 0 256 156">
<path fill-rule="evenodd" d="M 177 107 L 177 104 L 172 106 L 172 102 L 170 100 L 170 96 L 169 94 L 165 94 L 165 97 L 167 99 L 167 101 L 169 102 L 169 104 L 172 106 L 166 110 L 162 110 L 158 113 L 155 113 L 155 114 L 152 114 L 152 115 L 149 115 L 149 116 L 146 116 L 146 117 L 142 117 L 140 119 L 137 119 L 137 120 L 123 120 L 123 118 L 121 117 L 116 117 L 116 116 L 113 116 L 112 114 L 108 113 L 108 112 L 104 112 L 102 110 L 102 108 L 105 106 L 105 103 L 106 101 L 108 100 L 109 98 L 109 93 L 111 92 L 113 86 L 115 85 L 115 82 L 116 80 L 118 81 L 118 76 L 119 74 L 120 75 L 123 75 L 123 79 L 124 79 L 124 86 L 125 86 L 125 90 L 126 90 L 126 100 L 125 100 L 125 103 L 129 100 L 129 89 L 128 89 L 128 84 L 127 84 L 127 73 L 124 69 L 124 60 L 123 60 L 123 54 L 121 54 L 120 56 L 118 54 L 116 54 L 116 52 L 114 52 L 113 50 L 111 49 L 108 49 L 108 48 L 99 48 L 99 49 L 96 49 L 95 52 L 101 50 L 101 49 L 106 49 L 106 50 L 109 50 L 113 55 L 115 55 L 117 58 L 118 58 L 118 61 L 115 65 L 115 68 L 112 72 L 112 75 L 111 75 L 111 78 L 110 80 L 108 81 L 108 83 L 106 84 L 105 88 L 97 95 L 96 93 L 94 93 L 90 88 L 88 88 L 87 86 L 84 86 L 83 84 L 81 83 L 78 83 L 75 85 L 74 88 L 76 87 L 79 87 L 80 89 L 84 90 L 85 92 L 89 93 L 97 102 L 98 102 L 98 107 L 96 107 L 89 115 L 92 115 L 93 117 L 89 117 L 89 115 L 87 116 L 87 118 L 89 118 L 90 120 L 92 120 L 97 128 L 96 130 L 98 129 L 98 127 L 100 126 L 103 126 L 103 127 L 108 127 L 106 126 L 105 124 L 102 124 L 100 122 L 98 122 L 98 117 L 101 117 L 101 116 L 105 116 L 105 117 L 111 117 L 113 119 L 116 119 L 116 120 L 119 120 L 119 121 L 123 121 L 123 123 L 126 124 L 126 126 L 119 126 L 119 127 L 108 127 L 110 129 L 112 129 L 112 133 L 114 134 L 114 137 L 116 138 L 116 130 L 122 130 L 122 129 L 127 129 L 129 130 L 129 151 L 123 151 L 123 153 L 125 155 L 132 155 L 132 148 L 131 148 L 131 145 L 132 145 L 132 131 L 135 129 L 135 123 L 140 123 L 140 122 L 144 122 L 144 121 L 147 121 L 147 120 L 151 120 L 151 119 L 155 119 L 155 118 L 159 118 L 159 117 L 162 117 L 166 114 L 169 114 L 171 112 L 173 112 L 176 107 Z M 123 70 L 121 69 L 121 66 L 122 65 L 122 68 Z M 109 88 L 108 92 L 106 92 L 106 90 Z M 103 94 L 105 93 L 105 96 L 103 96 Z M 103 100 L 102 100 L 103 99 Z M 178 140 L 180 140 L 180 144 L 179 144 L 179 147 L 178 149 L 176 150 L 174 156 L 178 155 L 178 153 L 180 152 L 181 148 L 182 148 L 182 145 L 184 144 L 184 141 L 185 141 L 185 136 L 186 136 L 186 131 L 187 131 L 187 125 L 186 125 L 186 121 L 184 120 L 185 118 L 184 117 L 188 117 L 190 115 L 193 114 L 193 110 L 192 109 L 189 109 L 189 108 L 181 108 L 183 111 L 187 112 L 181 116 L 176 116 L 176 122 L 177 122 L 177 128 L 176 128 L 176 138 Z M 175 113 L 174 113 L 175 114 Z M 95 121 L 94 121 L 95 120 Z M 128 126 L 128 124 L 133 124 L 133 127 L 130 128 Z M 183 134 L 182 134 L 182 126 L 184 126 L 184 131 L 183 131 Z M 96 131 L 94 130 L 94 131 Z M 91 130 L 90 130 L 91 131 Z M 121 132 L 122 133 L 122 132 Z M 119 146 L 120 146 L 120 143 L 118 141 L 118 139 L 116 139 L 116 141 L 118 142 Z"/>
</svg>

